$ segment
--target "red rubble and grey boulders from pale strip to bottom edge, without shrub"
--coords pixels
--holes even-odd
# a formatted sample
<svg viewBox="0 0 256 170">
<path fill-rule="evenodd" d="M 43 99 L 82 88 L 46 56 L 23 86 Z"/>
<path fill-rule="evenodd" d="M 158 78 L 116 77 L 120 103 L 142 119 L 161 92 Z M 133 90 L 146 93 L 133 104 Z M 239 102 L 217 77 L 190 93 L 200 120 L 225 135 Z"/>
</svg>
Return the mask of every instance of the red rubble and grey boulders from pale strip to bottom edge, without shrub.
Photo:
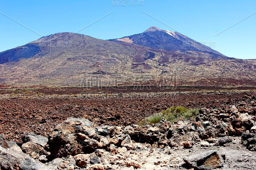
<svg viewBox="0 0 256 170">
<path fill-rule="evenodd" d="M 255 96 L 4 97 L 0 169 L 255 169 Z M 199 114 L 136 125 L 178 105 L 200 108 Z"/>
</svg>

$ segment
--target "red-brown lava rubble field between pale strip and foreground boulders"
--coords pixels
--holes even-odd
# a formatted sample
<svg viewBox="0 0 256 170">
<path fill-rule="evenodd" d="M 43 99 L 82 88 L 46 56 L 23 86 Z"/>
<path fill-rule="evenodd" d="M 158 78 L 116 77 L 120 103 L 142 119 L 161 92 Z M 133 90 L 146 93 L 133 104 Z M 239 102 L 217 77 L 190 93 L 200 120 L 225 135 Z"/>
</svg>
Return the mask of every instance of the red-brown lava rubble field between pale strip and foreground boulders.
<svg viewBox="0 0 256 170">
<path fill-rule="evenodd" d="M 56 124 L 68 117 L 82 117 L 98 125 L 129 125 L 171 106 L 222 108 L 237 104 L 254 92 L 188 93 L 158 97 L 107 99 L 14 98 L 0 100 L 0 134 L 20 141 L 23 132 L 49 135 Z"/>
</svg>

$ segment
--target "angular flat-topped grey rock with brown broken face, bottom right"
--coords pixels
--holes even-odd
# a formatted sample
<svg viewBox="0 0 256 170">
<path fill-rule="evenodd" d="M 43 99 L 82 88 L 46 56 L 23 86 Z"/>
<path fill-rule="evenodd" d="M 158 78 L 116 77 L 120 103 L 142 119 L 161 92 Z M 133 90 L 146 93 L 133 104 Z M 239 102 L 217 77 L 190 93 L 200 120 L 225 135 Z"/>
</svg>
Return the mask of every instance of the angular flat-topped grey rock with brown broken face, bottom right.
<svg viewBox="0 0 256 170">
<path fill-rule="evenodd" d="M 198 153 L 192 156 L 185 157 L 183 158 L 183 160 L 189 166 L 197 169 L 215 169 L 223 166 L 224 164 L 224 159 L 218 151 Z"/>
</svg>

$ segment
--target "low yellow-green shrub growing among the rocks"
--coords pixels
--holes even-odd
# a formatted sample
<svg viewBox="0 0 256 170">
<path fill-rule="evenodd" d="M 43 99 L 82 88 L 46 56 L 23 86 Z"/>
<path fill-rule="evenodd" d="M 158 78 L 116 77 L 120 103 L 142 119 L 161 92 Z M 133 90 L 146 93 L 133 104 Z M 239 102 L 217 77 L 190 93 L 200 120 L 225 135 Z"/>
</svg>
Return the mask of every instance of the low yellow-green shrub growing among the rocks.
<svg viewBox="0 0 256 170">
<path fill-rule="evenodd" d="M 155 113 L 140 121 L 140 125 L 147 125 L 148 123 L 159 123 L 162 119 L 170 122 L 178 121 L 179 119 L 186 119 L 188 117 L 195 118 L 198 109 L 185 108 L 183 106 L 170 107 L 160 113 Z"/>
</svg>

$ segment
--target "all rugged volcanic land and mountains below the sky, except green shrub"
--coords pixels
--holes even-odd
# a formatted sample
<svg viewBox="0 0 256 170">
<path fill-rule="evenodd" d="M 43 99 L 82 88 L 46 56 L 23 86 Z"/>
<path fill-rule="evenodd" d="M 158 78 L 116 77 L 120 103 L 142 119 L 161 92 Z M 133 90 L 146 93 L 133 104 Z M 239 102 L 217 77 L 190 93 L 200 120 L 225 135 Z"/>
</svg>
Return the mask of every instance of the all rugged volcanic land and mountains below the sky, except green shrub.
<svg viewBox="0 0 256 170">
<path fill-rule="evenodd" d="M 255 169 L 255 69 L 156 27 L 1 52 L 0 170 Z M 140 122 L 172 106 L 196 112 Z"/>
</svg>

